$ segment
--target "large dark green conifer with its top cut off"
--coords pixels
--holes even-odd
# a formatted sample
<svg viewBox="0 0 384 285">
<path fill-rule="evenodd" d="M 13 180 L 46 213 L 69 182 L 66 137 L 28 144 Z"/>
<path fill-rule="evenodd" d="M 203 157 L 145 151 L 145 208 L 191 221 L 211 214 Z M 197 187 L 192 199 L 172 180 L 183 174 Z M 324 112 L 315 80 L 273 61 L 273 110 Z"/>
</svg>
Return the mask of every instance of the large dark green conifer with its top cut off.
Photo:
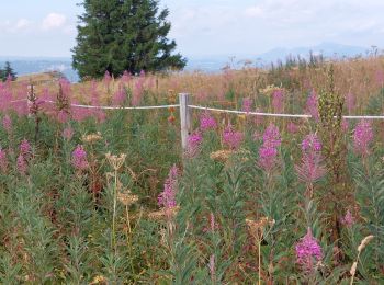
<svg viewBox="0 0 384 285">
<path fill-rule="evenodd" d="M 157 0 L 84 0 L 79 16 L 72 66 L 80 78 L 120 76 L 125 70 L 182 69 L 187 60 L 173 54 L 176 42 L 167 35 L 169 11 Z"/>
</svg>

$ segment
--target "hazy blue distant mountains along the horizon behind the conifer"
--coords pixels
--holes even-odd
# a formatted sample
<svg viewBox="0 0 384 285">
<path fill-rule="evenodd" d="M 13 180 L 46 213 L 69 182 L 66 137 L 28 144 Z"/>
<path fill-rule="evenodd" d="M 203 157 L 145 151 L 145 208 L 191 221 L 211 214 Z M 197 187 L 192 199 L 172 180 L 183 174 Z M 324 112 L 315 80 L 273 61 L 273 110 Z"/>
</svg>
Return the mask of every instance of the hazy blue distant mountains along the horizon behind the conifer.
<svg viewBox="0 0 384 285">
<path fill-rule="evenodd" d="M 292 55 L 300 55 L 302 58 L 309 56 L 309 52 L 318 55 L 323 54 L 325 57 L 355 57 L 365 56 L 372 48 L 349 46 L 335 43 L 323 43 L 317 46 L 310 47 L 295 47 L 295 48 L 274 48 L 260 55 L 238 55 L 231 57 L 230 55 L 213 55 L 213 56 L 191 56 L 188 57 L 188 66 L 185 70 L 201 70 L 205 72 L 217 72 L 223 67 L 229 65 L 233 68 L 240 68 L 244 66 L 246 60 L 252 61 L 253 65 L 269 65 L 276 60 L 283 60 Z M 4 61 L 11 61 L 11 66 L 18 72 L 18 75 L 38 73 L 45 71 L 60 71 L 65 75 L 68 80 L 76 82 L 79 77 L 76 70 L 71 67 L 70 58 L 48 58 L 48 57 L 4 57 L 0 56 L 0 67 L 3 66 Z"/>
</svg>

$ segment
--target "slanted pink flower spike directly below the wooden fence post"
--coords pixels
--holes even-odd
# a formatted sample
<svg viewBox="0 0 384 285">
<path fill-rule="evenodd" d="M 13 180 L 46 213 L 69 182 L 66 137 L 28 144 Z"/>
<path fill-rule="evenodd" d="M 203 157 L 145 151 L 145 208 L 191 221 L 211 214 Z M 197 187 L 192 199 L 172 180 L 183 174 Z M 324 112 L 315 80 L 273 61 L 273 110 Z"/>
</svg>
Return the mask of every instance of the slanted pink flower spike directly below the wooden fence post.
<svg viewBox="0 0 384 285">
<path fill-rule="evenodd" d="M 168 174 L 163 191 L 158 196 L 158 204 L 160 207 L 165 207 L 166 210 L 170 210 L 177 206 L 176 193 L 178 191 L 178 168 L 173 166 Z"/>
</svg>

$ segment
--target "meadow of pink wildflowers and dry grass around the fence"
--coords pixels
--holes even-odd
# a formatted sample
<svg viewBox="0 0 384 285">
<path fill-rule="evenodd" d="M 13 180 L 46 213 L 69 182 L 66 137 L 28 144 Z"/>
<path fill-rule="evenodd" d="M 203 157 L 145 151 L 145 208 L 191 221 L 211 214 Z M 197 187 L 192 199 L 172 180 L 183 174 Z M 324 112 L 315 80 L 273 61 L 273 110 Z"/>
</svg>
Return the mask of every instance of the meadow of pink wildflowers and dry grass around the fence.
<svg viewBox="0 0 384 285">
<path fill-rule="evenodd" d="M 1 284 L 382 284 L 380 58 L 0 83 Z M 359 77 L 357 77 L 359 76 Z M 193 103 L 312 118 L 93 106 Z"/>
</svg>

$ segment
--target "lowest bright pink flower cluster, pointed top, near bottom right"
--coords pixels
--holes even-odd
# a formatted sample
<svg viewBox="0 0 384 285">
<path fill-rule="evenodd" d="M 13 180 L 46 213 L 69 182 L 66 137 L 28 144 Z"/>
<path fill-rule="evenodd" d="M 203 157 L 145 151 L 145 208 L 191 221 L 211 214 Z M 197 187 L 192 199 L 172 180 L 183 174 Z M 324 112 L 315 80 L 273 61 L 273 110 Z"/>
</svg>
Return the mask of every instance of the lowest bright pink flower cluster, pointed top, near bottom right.
<svg viewBox="0 0 384 285">
<path fill-rule="evenodd" d="M 310 228 L 295 247 L 296 261 L 306 273 L 314 271 L 316 264 L 323 259 L 323 250 L 318 241 L 312 235 Z"/>
</svg>

